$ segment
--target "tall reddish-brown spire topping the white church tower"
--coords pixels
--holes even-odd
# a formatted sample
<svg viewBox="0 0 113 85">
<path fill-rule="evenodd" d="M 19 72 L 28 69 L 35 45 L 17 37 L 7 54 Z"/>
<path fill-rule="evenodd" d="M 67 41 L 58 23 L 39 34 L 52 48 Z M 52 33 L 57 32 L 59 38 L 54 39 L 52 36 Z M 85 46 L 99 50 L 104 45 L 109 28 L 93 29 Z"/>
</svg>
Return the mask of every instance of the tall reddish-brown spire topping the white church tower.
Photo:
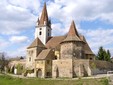
<svg viewBox="0 0 113 85">
<path fill-rule="evenodd" d="M 45 25 L 45 24 L 48 24 L 48 13 L 46 8 L 46 2 L 44 3 L 39 25 Z"/>
</svg>

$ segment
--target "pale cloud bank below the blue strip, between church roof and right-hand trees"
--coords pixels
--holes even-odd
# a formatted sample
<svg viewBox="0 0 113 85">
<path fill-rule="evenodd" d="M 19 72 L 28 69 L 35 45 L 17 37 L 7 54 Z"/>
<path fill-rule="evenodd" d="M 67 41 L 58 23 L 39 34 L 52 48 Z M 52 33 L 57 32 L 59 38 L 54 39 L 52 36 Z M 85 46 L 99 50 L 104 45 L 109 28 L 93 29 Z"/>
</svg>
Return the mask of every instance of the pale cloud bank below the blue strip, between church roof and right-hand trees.
<svg viewBox="0 0 113 85">
<path fill-rule="evenodd" d="M 95 54 L 97 54 L 98 48 L 103 46 L 106 50 L 109 49 L 113 55 L 112 48 L 110 48 L 113 46 L 113 29 L 98 28 L 95 30 L 82 30 L 82 34 L 87 38 Z"/>
</svg>

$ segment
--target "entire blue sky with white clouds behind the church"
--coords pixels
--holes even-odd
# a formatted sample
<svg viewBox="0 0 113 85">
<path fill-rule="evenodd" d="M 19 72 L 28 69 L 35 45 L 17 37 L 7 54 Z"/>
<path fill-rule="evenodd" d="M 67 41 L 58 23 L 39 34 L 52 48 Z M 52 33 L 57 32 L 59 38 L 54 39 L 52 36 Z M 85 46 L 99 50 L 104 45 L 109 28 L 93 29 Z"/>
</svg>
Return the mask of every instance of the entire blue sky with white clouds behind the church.
<svg viewBox="0 0 113 85">
<path fill-rule="evenodd" d="M 52 35 L 68 32 L 74 20 L 95 54 L 103 46 L 113 56 L 112 0 L 44 0 L 52 20 Z M 26 47 L 34 40 L 37 18 L 43 0 L 0 0 L 0 52 L 8 56 L 26 55 Z"/>
</svg>

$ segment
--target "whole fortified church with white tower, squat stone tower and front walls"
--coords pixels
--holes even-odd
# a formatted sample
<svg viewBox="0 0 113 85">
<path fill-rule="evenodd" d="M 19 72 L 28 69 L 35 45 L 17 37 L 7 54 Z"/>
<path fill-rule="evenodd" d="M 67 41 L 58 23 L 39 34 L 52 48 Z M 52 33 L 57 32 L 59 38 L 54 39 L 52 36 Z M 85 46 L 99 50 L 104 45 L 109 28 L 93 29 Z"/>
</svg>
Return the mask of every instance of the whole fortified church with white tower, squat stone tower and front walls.
<svg viewBox="0 0 113 85">
<path fill-rule="evenodd" d="M 101 67 L 103 65 L 99 61 L 95 61 L 92 50 L 85 37 L 78 33 L 74 21 L 68 33 L 62 36 L 51 36 L 51 24 L 45 3 L 36 23 L 35 39 L 27 47 L 25 68 L 34 70 L 27 76 L 73 78 L 103 72 L 105 68 Z"/>
</svg>

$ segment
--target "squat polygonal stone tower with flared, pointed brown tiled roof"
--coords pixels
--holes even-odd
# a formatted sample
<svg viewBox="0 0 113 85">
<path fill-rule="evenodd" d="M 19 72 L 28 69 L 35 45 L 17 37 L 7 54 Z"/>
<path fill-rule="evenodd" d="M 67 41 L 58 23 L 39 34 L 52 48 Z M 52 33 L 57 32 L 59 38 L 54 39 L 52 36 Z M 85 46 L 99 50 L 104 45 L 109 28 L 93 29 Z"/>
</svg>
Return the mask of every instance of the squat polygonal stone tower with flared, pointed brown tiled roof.
<svg viewBox="0 0 113 85">
<path fill-rule="evenodd" d="M 84 42 L 80 39 L 74 21 L 72 21 L 66 39 L 61 42 L 61 59 L 81 59 Z"/>
</svg>

